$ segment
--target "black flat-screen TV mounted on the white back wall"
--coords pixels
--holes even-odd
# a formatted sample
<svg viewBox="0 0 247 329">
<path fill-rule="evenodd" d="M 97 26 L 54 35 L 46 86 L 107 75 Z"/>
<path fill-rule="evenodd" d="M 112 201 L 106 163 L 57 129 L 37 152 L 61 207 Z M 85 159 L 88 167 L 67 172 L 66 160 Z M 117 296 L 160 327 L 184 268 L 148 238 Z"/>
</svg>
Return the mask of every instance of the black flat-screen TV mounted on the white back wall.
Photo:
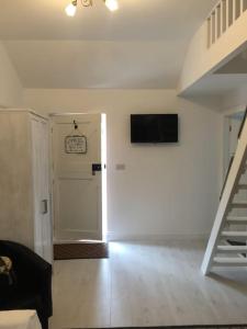
<svg viewBox="0 0 247 329">
<path fill-rule="evenodd" d="M 178 143 L 178 114 L 132 114 L 132 143 Z"/>
</svg>

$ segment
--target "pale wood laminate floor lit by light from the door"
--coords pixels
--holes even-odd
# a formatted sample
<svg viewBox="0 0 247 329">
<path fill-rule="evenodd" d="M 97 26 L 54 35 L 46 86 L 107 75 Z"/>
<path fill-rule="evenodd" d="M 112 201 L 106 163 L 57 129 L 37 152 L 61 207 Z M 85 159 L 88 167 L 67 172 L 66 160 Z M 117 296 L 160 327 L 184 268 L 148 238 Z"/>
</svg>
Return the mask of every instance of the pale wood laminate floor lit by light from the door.
<svg viewBox="0 0 247 329">
<path fill-rule="evenodd" d="M 112 242 L 110 259 L 57 261 L 50 329 L 247 324 L 247 270 L 204 277 L 202 241 Z"/>
</svg>

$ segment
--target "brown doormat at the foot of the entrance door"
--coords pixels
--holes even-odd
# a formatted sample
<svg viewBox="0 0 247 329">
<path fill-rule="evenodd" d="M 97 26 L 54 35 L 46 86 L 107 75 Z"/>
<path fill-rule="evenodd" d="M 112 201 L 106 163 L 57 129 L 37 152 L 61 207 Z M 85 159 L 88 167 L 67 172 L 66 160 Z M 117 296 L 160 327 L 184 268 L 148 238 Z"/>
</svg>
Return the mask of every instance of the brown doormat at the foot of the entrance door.
<svg viewBox="0 0 247 329">
<path fill-rule="evenodd" d="M 78 242 L 54 245 L 54 259 L 101 259 L 109 258 L 105 242 Z"/>
</svg>

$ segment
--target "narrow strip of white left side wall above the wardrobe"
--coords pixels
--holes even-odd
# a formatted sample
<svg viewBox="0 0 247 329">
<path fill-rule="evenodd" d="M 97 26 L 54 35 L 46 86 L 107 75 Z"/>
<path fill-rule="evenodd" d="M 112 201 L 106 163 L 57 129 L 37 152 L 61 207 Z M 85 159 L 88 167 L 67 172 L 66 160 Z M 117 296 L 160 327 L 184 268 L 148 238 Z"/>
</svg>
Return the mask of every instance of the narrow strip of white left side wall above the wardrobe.
<svg viewBox="0 0 247 329">
<path fill-rule="evenodd" d="M 0 42 L 0 107 L 21 106 L 23 89 L 3 44 Z"/>
</svg>

